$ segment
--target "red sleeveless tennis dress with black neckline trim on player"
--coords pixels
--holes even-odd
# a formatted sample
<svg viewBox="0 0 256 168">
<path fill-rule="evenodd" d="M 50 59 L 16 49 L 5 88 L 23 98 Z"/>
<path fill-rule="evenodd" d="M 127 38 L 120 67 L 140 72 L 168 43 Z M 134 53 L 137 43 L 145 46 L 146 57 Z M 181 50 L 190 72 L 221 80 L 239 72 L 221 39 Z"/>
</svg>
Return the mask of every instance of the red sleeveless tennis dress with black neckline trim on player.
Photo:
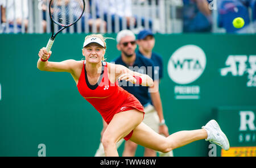
<svg viewBox="0 0 256 168">
<path fill-rule="evenodd" d="M 107 124 L 113 119 L 113 116 L 121 111 L 137 109 L 144 113 L 144 108 L 133 94 L 130 94 L 122 87 L 118 86 L 118 81 L 111 83 L 108 77 L 108 64 L 102 61 L 102 71 L 100 79 L 96 85 L 90 85 L 86 69 L 85 61 L 82 72 L 77 83 L 79 93 L 100 112 Z M 133 131 L 125 137 L 129 140 L 133 135 Z"/>
</svg>

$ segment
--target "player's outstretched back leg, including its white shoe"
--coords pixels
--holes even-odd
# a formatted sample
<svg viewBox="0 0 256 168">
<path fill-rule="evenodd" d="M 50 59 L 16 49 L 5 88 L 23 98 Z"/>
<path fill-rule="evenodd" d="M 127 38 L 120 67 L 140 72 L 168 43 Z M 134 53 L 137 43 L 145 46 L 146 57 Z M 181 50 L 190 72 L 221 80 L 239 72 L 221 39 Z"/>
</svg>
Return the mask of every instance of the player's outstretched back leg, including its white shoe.
<svg viewBox="0 0 256 168">
<path fill-rule="evenodd" d="M 133 136 L 130 138 L 139 145 L 163 153 L 203 139 L 221 146 L 224 150 L 229 150 L 228 138 L 215 120 L 210 120 L 202 129 L 179 131 L 168 137 L 159 135 L 146 124 L 141 123 L 134 129 Z"/>
</svg>

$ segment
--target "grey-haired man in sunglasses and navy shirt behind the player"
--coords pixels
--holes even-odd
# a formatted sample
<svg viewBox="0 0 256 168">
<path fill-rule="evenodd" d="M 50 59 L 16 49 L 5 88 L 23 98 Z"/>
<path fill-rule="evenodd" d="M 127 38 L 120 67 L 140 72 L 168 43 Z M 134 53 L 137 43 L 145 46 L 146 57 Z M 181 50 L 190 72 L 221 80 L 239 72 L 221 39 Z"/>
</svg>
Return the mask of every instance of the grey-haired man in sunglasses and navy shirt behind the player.
<svg viewBox="0 0 256 168">
<path fill-rule="evenodd" d="M 119 56 L 118 58 L 113 60 L 113 62 L 115 64 L 120 64 L 120 65 L 126 66 L 127 68 L 129 68 L 131 70 L 134 70 L 134 71 L 137 71 L 140 73 L 144 73 L 144 74 L 148 74 L 152 77 L 153 80 L 155 78 L 158 79 L 158 77 L 157 77 L 158 74 L 154 73 L 155 72 L 154 62 L 152 62 L 152 60 L 150 60 L 146 57 L 143 57 L 142 55 L 137 55 L 135 53 L 136 48 L 137 48 L 136 37 L 133 32 L 131 32 L 130 30 L 123 30 L 123 31 L 119 32 L 117 35 L 117 49 L 119 51 L 121 51 L 121 56 Z M 144 107 L 144 112 L 145 112 L 144 119 L 147 117 L 148 113 L 155 111 L 155 108 L 151 105 L 151 98 L 158 99 L 158 98 L 155 98 L 155 96 L 159 95 L 158 80 L 156 80 L 156 82 L 154 82 L 154 83 L 156 83 L 155 84 L 156 87 L 150 88 L 150 87 L 145 87 L 145 86 L 136 86 L 136 85 L 133 85 L 132 83 L 126 82 L 126 81 L 119 82 L 119 86 L 121 86 L 121 87 L 123 87 L 123 89 L 129 91 L 129 93 L 133 94 L 139 100 L 139 102 L 141 102 L 141 104 Z M 158 94 L 155 94 L 155 93 L 158 93 Z M 162 103 L 160 104 L 160 106 L 162 108 Z M 154 117 L 158 121 L 156 126 L 159 127 L 159 118 L 160 118 L 160 120 L 162 121 L 162 125 L 160 126 L 160 127 L 162 127 L 162 133 L 164 136 L 168 136 L 169 135 L 168 128 L 164 124 L 164 117 L 163 117 L 162 112 L 163 111 L 154 113 L 156 115 Z M 106 126 L 107 126 L 106 123 L 104 123 L 104 129 L 101 132 L 102 134 L 105 131 Z M 150 126 L 150 125 L 148 125 L 148 126 Z M 158 132 L 159 130 L 156 130 L 156 131 Z M 121 145 L 122 142 L 123 142 L 123 140 L 120 140 L 117 143 L 117 148 Z M 136 149 L 137 149 L 137 144 L 135 144 L 132 141 L 126 141 L 123 156 L 134 156 Z M 144 156 L 152 156 L 152 155 L 149 155 L 149 153 L 147 153 L 147 149 L 145 149 L 145 152 L 146 153 L 144 153 Z M 150 153 L 150 154 L 152 154 L 152 153 Z M 103 150 L 102 145 L 100 145 L 100 148 L 97 150 L 95 156 L 104 156 L 104 150 Z"/>
</svg>

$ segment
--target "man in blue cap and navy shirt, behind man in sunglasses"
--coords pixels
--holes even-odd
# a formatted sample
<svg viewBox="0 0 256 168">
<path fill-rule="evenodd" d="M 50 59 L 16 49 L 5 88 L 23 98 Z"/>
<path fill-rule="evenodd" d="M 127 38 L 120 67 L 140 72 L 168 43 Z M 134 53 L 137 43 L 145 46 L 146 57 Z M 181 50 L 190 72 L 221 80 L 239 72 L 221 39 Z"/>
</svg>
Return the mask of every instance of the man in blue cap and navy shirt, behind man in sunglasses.
<svg viewBox="0 0 256 168">
<path fill-rule="evenodd" d="M 136 55 L 146 57 L 152 60 L 152 62 L 154 62 L 154 66 L 155 66 L 154 80 L 160 82 L 160 79 L 163 78 L 163 69 L 164 69 L 163 59 L 162 59 L 162 56 L 160 56 L 160 54 L 152 51 L 152 49 L 155 47 L 154 33 L 152 33 L 151 30 L 142 30 L 141 32 L 138 33 L 137 44 L 139 46 L 139 49 L 136 52 Z M 155 83 L 159 83 L 159 82 L 155 82 Z M 162 108 L 162 101 L 160 98 L 159 91 L 155 93 L 151 93 L 151 100 L 152 100 L 151 104 L 154 106 L 154 110 L 152 110 L 152 112 L 150 113 L 150 115 L 148 115 L 148 117 L 145 117 L 144 123 L 150 126 L 152 129 L 154 129 L 155 132 L 163 134 L 163 127 L 161 125 L 164 124 L 164 121 L 161 120 L 162 116 L 160 116 L 161 114 L 163 114 L 163 108 Z M 161 122 L 159 123 L 159 120 L 155 119 L 156 117 L 154 116 L 159 116 Z M 148 149 L 146 152 L 148 153 L 149 156 L 155 155 L 154 150 Z M 174 155 L 173 155 L 173 152 L 171 151 L 168 153 L 159 153 L 159 156 L 170 157 Z"/>
</svg>

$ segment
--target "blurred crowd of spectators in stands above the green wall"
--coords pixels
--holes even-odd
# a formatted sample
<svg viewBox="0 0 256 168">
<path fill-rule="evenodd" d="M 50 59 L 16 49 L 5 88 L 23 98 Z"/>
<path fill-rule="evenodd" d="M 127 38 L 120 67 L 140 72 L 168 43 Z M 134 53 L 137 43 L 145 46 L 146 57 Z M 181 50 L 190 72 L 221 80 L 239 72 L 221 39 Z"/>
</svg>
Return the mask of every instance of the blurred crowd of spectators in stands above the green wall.
<svg viewBox="0 0 256 168">
<path fill-rule="evenodd" d="M 8 32 L 22 32 L 27 31 L 28 27 L 28 1 L 32 0 L 0 0 L 0 18 L 1 26 L 0 33 L 5 32 L 5 26 L 8 24 Z M 48 14 L 45 2 L 49 0 L 42 0 L 44 6 L 42 27 L 43 32 L 46 32 L 46 15 Z M 60 0 L 61 2 L 66 0 Z M 151 5 L 151 0 L 139 0 L 144 3 L 147 1 Z M 159 1 L 155 0 L 156 5 Z M 171 0 L 169 0 L 171 1 Z M 213 24 L 216 23 L 218 28 L 223 28 L 227 33 L 247 32 L 250 25 L 254 26 L 256 20 L 256 0 L 173 0 L 182 1 L 182 22 L 184 33 L 189 32 L 212 32 Z M 75 2 L 75 1 L 74 1 Z M 85 32 L 85 25 L 88 24 L 90 32 L 92 27 L 96 27 L 97 32 L 107 32 L 108 26 L 111 25 L 111 32 L 118 32 L 123 29 L 133 29 L 140 26 L 152 29 L 154 18 L 139 17 L 132 6 L 133 0 L 89 0 L 86 1 L 86 12 L 82 16 L 82 32 Z M 77 9 L 73 4 L 71 7 Z M 92 10 L 93 7 L 93 10 Z M 213 12 L 217 11 L 217 20 L 214 22 Z M 159 11 L 158 11 L 159 12 Z M 85 24 L 85 17 L 87 23 Z M 241 29 L 234 28 L 232 21 L 234 18 L 241 17 L 245 20 L 245 26 Z M 147 20 L 146 20 L 147 19 Z M 108 24 L 110 22 L 110 24 Z M 15 27 L 16 24 L 16 27 Z M 15 29 L 14 29 L 15 27 Z M 76 27 L 75 27 L 76 31 Z"/>
</svg>

